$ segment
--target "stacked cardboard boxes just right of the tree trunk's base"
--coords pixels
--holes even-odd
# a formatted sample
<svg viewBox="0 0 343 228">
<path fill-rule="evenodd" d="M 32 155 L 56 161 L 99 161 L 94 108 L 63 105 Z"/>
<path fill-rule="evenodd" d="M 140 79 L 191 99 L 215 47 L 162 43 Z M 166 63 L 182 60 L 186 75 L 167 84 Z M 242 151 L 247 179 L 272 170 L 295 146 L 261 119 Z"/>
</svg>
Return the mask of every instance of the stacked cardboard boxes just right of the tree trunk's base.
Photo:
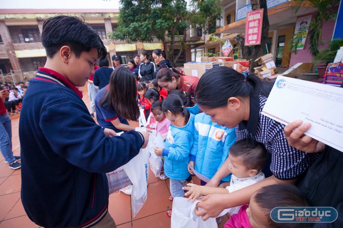
<svg viewBox="0 0 343 228">
<path fill-rule="evenodd" d="M 271 53 L 261 56 L 260 58 L 255 60 L 255 62 L 258 62 L 261 65 L 254 68 L 254 73 L 256 73 L 261 79 L 273 81 L 277 77 L 274 73 L 276 65 L 273 60 L 273 55 Z"/>
</svg>

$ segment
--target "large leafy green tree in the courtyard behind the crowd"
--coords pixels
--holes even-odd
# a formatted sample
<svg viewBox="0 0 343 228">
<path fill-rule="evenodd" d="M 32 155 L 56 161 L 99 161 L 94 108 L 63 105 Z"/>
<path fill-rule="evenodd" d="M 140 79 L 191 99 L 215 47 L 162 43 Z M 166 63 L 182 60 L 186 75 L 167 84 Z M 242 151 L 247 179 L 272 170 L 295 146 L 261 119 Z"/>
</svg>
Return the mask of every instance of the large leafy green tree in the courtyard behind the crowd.
<svg viewBox="0 0 343 228">
<path fill-rule="evenodd" d="M 110 39 L 127 42 L 161 41 L 167 58 L 175 62 L 187 48 L 187 30 L 221 18 L 220 0 L 121 0 L 118 27 Z M 179 36 L 182 34 L 183 36 Z M 174 49 L 178 53 L 174 56 Z"/>
</svg>

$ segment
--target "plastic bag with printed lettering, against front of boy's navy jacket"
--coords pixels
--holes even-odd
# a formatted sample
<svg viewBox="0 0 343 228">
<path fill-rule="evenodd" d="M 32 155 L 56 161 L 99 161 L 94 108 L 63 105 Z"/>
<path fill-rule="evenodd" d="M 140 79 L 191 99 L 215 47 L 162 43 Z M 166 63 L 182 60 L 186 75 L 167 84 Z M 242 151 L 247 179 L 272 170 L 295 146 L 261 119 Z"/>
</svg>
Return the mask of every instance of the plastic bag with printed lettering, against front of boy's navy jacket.
<svg viewBox="0 0 343 228">
<path fill-rule="evenodd" d="M 110 194 L 132 184 L 129 177 L 126 175 L 123 166 L 112 172 L 106 173 L 106 177 Z"/>
</svg>

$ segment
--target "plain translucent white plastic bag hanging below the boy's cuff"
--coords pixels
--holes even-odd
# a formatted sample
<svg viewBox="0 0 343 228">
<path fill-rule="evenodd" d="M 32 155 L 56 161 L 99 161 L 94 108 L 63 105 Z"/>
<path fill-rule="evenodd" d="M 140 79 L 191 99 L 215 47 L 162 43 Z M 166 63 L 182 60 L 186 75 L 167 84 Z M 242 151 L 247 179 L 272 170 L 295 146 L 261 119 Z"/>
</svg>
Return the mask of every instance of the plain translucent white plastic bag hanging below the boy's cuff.
<svg viewBox="0 0 343 228">
<path fill-rule="evenodd" d="M 141 149 L 138 155 L 123 166 L 133 185 L 131 193 L 133 216 L 136 216 L 147 200 L 148 157 L 147 150 Z"/>
</svg>

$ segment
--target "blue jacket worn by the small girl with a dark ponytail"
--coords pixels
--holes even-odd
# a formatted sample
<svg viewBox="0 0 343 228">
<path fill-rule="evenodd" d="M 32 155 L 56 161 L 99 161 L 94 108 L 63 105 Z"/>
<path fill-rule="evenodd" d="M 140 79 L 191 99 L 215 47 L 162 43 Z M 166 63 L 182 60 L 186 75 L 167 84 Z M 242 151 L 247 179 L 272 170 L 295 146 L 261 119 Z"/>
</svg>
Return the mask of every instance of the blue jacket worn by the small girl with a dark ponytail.
<svg viewBox="0 0 343 228">
<path fill-rule="evenodd" d="M 172 180 L 186 180 L 190 173 L 187 169 L 189 154 L 193 145 L 194 115 L 190 114 L 188 123 L 183 127 L 171 124 L 166 138 L 164 156 L 164 172 Z"/>
</svg>

